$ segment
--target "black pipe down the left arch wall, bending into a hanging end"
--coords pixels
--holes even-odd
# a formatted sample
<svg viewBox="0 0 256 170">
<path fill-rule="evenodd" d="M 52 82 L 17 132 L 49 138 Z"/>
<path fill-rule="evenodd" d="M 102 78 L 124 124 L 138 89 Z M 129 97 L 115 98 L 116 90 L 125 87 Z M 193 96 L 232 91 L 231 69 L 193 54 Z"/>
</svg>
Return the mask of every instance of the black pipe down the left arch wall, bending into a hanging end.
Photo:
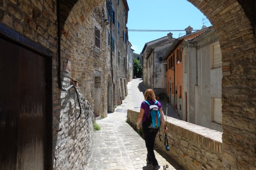
<svg viewBox="0 0 256 170">
<path fill-rule="evenodd" d="M 61 91 L 68 91 L 70 88 L 74 88 L 76 91 L 76 97 L 78 100 L 80 112 L 79 116 L 76 118 L 79 119 L 81 116 L 82 108 L 80 105 L 80 100 L 79 100 L 79 94 L 77 92 L 77 89 L 74 85 L 70 85 L 68 88 L 62 88 L 62 82 L 61 82 L 61 14 L 60 14 L 60 0 L 57 0 L 57 22 L 58 22 L 58 88 L 61 89 Z"/>
</svg>

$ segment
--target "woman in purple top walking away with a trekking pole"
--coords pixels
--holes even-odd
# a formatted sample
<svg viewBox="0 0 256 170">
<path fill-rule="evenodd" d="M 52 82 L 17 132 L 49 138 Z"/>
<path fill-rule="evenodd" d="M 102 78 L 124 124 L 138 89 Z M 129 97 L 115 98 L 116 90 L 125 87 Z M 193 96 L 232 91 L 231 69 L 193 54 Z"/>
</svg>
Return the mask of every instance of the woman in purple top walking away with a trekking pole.
<svg viewBox="0 0 256 170">
<path fill-rule="evenodd" d="M 154 94 L 154 91 L 152 89 L 148 89 L 145 91 L 144 94 L 145 100 L 150 104 L 154 105 L 156 102 L 156 96 Z M 160 109 L 160 120 L 162 125 L 165 127 L 165 121 L 163 118 L 163 111 L 162 111 L 162 106 L 160 102 L 157 102 L 157 107 Z M 147 119 L 148 119 L 148 110 L 149 110 L 149 105 L 146 102 L 142 102 L 140 105 L 140 114 L 139 118 L 137 120 L 137 129 L 140 129 L 140 122 L 142 121 L 142 130 L 143 130 L 143 136 L 145 139 L 145 144 L 146 148 L 148 150 L 147 153 L 147 164 L 152 164 L 154 167 L 154 170 L 160 169 L 160 166 L 158 165 L 157 159 L 154 154 L 154 141 L 157 136 L 157 132 L 159 131 L 159 128 L 148 128 L 147 127 Z M 165 133 L 167 132 L 167 128 L 164 130 Z"/>
</svg>

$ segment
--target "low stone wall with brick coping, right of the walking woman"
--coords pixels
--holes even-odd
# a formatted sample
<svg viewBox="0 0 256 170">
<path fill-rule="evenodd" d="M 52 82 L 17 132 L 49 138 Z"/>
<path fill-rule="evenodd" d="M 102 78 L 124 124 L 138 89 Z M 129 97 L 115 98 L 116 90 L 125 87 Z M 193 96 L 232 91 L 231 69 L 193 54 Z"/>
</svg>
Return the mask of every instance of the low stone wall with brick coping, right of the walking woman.
<svg viewBox="0 0 256 170">
<path fill-rule="evenodd" d="M 136 126 L 138 111 L 128 110 L 127 120 Z M 170 150 L 164 146 L 164 132 L 157 137 L 157 148 L 172 157 L 186 170 L 224 170 L 222 164 L 222 133 L 182 120 L 167 117 Z"/>
</svg>

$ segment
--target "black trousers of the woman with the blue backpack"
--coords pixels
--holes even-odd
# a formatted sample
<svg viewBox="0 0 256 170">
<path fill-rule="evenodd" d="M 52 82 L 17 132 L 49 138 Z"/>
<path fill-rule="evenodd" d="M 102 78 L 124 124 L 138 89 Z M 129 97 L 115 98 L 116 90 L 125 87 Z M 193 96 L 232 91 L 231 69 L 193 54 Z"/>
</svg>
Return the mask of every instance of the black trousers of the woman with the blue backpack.
<svg viewBox="0 0 256 170">
<path fill-rule="evenodd" d="M 153 166 L 158 165 L 156 156 L 154 155 L 154 141 L 157 136 L 158 128 L 148 128 L 146 122 L 142 123 L 142 131 L 145 139 L 146 148 L 148 150 L 147 158 L 152 162 Z"/>
</svg>

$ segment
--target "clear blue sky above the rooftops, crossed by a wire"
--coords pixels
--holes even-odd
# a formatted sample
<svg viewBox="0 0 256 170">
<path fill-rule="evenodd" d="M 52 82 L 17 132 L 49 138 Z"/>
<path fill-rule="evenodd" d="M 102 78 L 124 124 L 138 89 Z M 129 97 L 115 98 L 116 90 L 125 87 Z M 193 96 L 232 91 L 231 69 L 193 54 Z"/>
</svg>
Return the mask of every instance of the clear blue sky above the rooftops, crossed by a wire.
<svg viewBox="0 0 256 170">
<path fill-rule="evenodd" d="M 191 26 L 201 29 L 211 26 L 201 11 L 186 0 L 127 0 L 128 30 L 184 30 Z M 170 31 L 174 38 L 184 35 L 185 31 Z M 168 31 L 137 32 L 129 31 L 129 41 L 134 53 L 140 54 L 146 42 L 167 36 Z"/>
</svg>

